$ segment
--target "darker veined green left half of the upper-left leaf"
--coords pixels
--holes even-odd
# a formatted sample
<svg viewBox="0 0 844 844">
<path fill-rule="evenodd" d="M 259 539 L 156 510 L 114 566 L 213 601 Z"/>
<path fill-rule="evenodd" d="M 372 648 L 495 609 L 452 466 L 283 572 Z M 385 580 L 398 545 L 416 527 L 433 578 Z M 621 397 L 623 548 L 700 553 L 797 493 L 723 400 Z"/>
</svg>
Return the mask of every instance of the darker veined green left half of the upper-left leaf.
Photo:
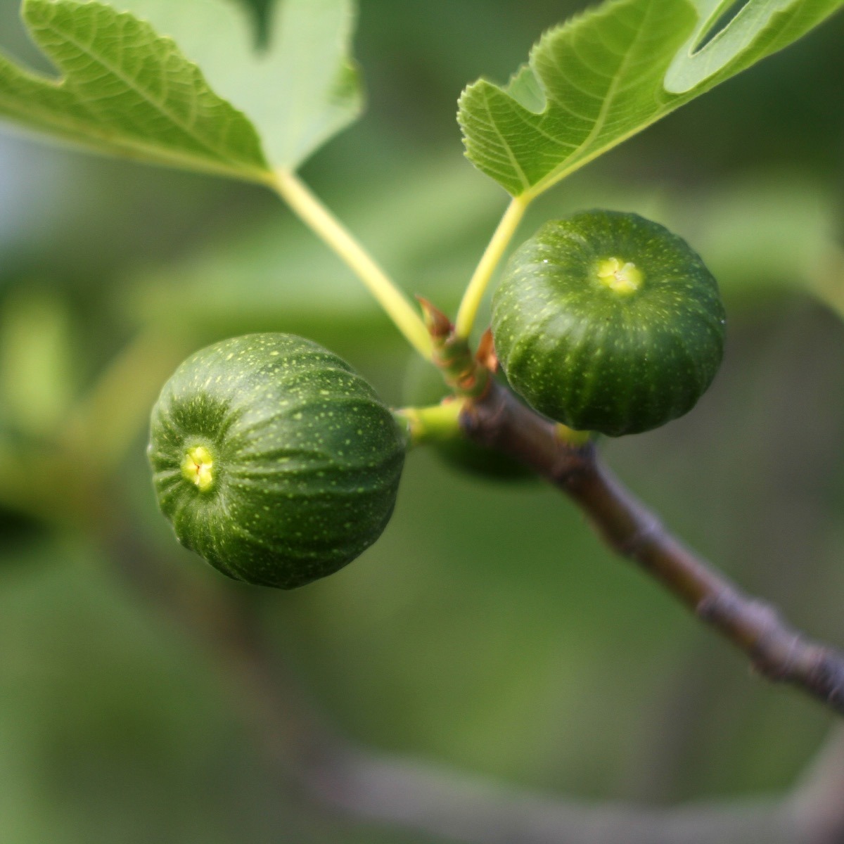
<svg viewBox="0 0 844 844">
<path fill-rule="evenodd" d="M 0 117 L 89 149 L 262 181 L 252 124 L 149 24 L 100 3 L 24 0 L 24 24 L 60 78 L 0 55 Z"/>
</svg>

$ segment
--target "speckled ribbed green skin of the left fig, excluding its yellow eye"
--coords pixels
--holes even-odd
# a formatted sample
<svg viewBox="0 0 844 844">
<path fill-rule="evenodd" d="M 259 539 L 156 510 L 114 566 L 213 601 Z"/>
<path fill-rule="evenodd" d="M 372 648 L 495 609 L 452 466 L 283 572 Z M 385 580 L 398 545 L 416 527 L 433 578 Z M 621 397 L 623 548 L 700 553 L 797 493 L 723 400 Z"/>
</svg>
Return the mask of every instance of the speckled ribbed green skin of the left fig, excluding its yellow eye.
<svg viewBox="0 0 844 844">
<path fill-rule="evenodd" d="M 152 412 L 149 463 L 181 544 L 236 580 L 289 589 L 337 571 L 392 515 L 405 444 L 337 355 L 289 334 L 192 354 Z M 213 457 L 207 490 L 186 454 Z"/>
</svg>

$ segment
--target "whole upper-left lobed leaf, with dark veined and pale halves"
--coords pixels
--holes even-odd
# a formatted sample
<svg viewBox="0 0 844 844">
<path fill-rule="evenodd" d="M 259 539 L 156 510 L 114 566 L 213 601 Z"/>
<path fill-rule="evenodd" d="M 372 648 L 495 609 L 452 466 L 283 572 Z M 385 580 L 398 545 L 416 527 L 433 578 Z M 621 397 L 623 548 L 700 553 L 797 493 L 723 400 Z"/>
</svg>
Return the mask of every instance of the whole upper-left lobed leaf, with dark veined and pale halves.
<svg viewBox="0 0 844 844">
<path fill-rule="evenodd" d="M 0 54 L 0 117 L 100 153 L 264 181 L 360 114 L 353 3 L 284 0 L 258 50 L 235 0 L 24 0 L 61 76 Z"/>
</svg>

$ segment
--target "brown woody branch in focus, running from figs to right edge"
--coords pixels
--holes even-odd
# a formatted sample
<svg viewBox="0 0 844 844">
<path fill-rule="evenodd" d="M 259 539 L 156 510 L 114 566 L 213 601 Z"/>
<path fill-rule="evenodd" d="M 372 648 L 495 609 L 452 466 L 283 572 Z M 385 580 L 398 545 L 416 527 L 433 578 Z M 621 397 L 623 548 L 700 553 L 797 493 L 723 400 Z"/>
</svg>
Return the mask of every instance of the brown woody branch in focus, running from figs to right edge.
<svg viewBox="0 0 844 844">
<path fill-rule="evenodd" d="M 474 441 L 517 457 L 565 492 L 611 548 L 744 651 L 760 674 L 844 714 L 844 654 L 793 630 L 770 605 L 680 544 L 603 466 L 594 446 L 567 445 L 553 423 L 494 380 L 482 398 L 467 403 L 461 425 Z"/>
</svg>

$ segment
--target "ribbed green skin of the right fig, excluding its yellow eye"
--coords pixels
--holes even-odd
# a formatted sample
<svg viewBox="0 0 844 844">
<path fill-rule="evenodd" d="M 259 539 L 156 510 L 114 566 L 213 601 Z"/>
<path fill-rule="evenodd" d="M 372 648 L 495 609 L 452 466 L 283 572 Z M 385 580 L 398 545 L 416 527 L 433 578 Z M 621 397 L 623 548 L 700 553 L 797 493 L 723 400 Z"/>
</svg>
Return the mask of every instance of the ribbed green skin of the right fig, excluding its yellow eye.
<svg viewBox="0 0 844 844">
<path fill-rule="evenodd" d="M 632 262 L 620 293 L 602 262 Z M 721 364 L 726 317 L 716 280 L 677 235 L 637 214 L 552 220 L 513 254 L 493 298 L 495 350 L 540 413 L 609 436 L 687 413 Z"/>
</svg>

